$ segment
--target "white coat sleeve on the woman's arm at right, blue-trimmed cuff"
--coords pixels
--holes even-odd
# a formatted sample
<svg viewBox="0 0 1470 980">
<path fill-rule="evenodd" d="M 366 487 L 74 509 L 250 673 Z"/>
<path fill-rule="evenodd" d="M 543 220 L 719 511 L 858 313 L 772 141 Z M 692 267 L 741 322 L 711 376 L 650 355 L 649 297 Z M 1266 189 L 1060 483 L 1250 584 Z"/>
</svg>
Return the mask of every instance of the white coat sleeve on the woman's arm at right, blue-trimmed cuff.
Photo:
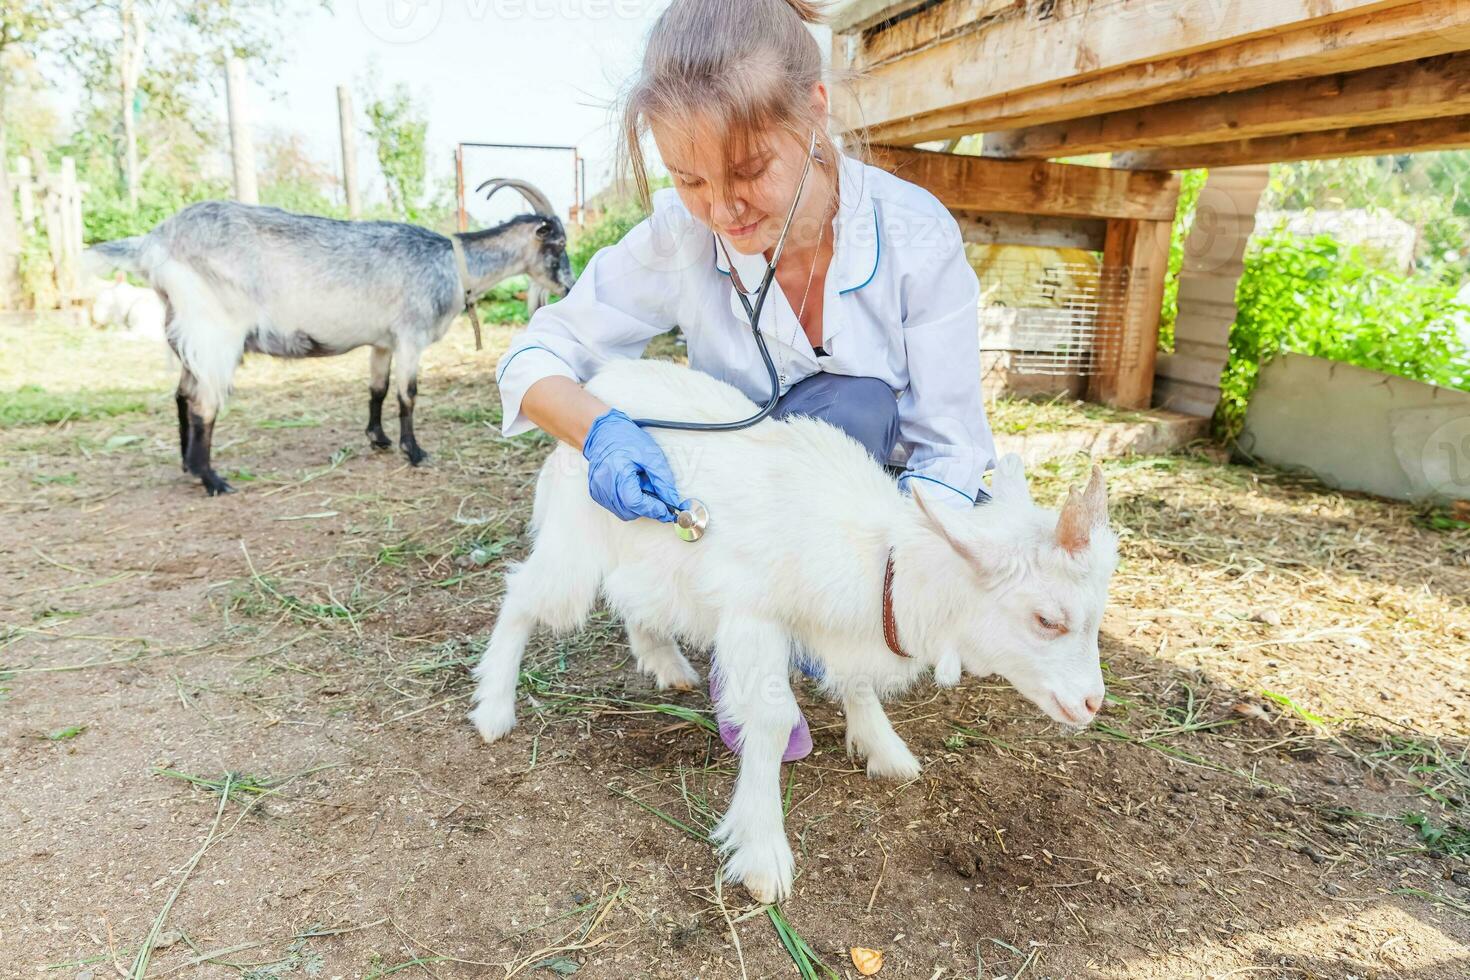
<svg viewBox="0 0 1470 980">
<path fill-rule="evenodd" d="M 980 284 L 954 217 L 945 245 L 914 276 L 903 323 L 908 388 L 898 398 L 898 438 L 908 448 L 900 485 L 964 507 L 983 494 L 995 441 L 980 394 Z"/>
</svg>

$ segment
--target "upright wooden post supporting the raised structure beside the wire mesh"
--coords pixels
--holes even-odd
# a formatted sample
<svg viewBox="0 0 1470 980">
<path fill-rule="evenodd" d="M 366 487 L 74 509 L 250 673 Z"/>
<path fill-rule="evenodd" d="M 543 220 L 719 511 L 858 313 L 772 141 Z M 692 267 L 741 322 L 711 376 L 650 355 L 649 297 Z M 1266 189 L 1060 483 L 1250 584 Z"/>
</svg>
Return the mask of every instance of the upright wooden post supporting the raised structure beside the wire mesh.
<svg viewBox="0 0 1470 980">
<path fill-rule="evenodd" d="M 1117 408 L 1147 408 L 1154 397 L 1158 317 L 1169 270 L 1169 231 L 1164 220 L 1111 220 L 1102 248 L 1102 278 L 1126 276 L 1122 310 L 1100 311 L 1098 370 L 1088 379 L 1088 398 Z M 1104 317 L 1120 317 L 1107 323 Z M 1108 328 L 1113 329 L 1108 329 Z"/>
</svg>

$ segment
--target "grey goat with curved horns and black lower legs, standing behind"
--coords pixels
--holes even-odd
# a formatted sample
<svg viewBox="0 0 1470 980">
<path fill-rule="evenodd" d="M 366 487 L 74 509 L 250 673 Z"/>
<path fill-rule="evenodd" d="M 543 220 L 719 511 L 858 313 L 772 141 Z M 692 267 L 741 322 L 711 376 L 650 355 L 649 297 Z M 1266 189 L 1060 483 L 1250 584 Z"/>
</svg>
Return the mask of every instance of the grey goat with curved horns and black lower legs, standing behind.
<svg viewBox="0 0 1470 980">
<path fill-rule="evenodd" d="M 572 288 L 566 231 L 529 184 L 488 181 L 520 191 L 537 209 L 484 231 L 459 234 L 467 281 L 444 235 L 400 222 L 347 222 L 275 207 L 203 201 L 146 235 L 88 250 L 94 264 L 126 269 L 163 297 L 165 332 L 184 363 L 179 378 L 179 454 L 210 497 L 231 492 L 210 467 L 215 416 L 245 351 L 322 357 L 372 347 L 368 438 L 382 430 L 388 370 L 398 360 L 398 447 L 415 466 L 425 451 L 413 435 L 419 357 L 450 329 L 466 300 L 514 275 L 564 295 Z M 482 187 L 487 187 L 482 185 Z"/>
</svg>

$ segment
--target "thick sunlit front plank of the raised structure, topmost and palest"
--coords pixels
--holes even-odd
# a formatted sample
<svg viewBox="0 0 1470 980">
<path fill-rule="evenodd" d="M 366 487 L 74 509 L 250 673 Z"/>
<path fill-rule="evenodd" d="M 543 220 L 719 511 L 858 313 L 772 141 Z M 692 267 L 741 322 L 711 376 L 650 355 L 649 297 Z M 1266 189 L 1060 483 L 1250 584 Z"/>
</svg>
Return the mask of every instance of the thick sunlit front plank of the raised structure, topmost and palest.
<svg viewBox="0 0 1470 980">
<path fill-rule="evenodd" d="M 1230 4 L 1219 40 L 1198 50 L 1169 47 L 1198 43 L 1188 31 L 1138 18 L 1120 18 L 1138 28 L 1136 43 L 1126 31 L 1083 37 L 1066 26 L 1070 22 L 1013 18 L 936 38 L 882 65 L 863 65 L 863 48 L 848 50 L 853 35 L 833 37 L 833 66 L 863 72 L 850 87 L 835 87 L 833 112 L 876 143 L 920 143 L 1470 48 L 1470 4 L 1461 0 L 1313 4 L 1317 16 L 1304 16 L 1299 3 L 1280 6 L 1274 29 L 1230 37 L 1230 29 L 1260 26 L 1269 18 L 1258 4 Z M 1214 26 L 1214 19 L 1205 21 Z M 1076 34 L 1070 44 L 1085 41 L 1088 57 L 1069 62 L 1053 50 L 1066 47 L 1067 32 Z"/>
</svg>

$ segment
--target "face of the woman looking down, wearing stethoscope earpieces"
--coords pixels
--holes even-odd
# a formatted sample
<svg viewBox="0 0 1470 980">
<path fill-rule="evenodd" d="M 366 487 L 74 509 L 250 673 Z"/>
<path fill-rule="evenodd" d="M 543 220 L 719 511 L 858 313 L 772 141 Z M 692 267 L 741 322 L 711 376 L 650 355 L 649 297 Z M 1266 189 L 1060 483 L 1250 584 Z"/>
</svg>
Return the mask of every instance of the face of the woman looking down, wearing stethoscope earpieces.
<svg viewBox="0 0 1470 980">
<path fill-rule="evenodd" d="M 697 131 L 692 140 L 657 125 L 651 129 L 679 200 L 691 215 L 720 232 L 742 254 L 764 253 L 776 245 L 807 159 L 807 140 L 797 143 L 784 129 L 757 135 L 748 159 L 731 162 L 729 187 L 725 187 L 722 138 L 709 128 Z M 813 165 L 786 235 L 788 248 L 816 244 L 829 197 L 826 176 Z"/>
</svg>

